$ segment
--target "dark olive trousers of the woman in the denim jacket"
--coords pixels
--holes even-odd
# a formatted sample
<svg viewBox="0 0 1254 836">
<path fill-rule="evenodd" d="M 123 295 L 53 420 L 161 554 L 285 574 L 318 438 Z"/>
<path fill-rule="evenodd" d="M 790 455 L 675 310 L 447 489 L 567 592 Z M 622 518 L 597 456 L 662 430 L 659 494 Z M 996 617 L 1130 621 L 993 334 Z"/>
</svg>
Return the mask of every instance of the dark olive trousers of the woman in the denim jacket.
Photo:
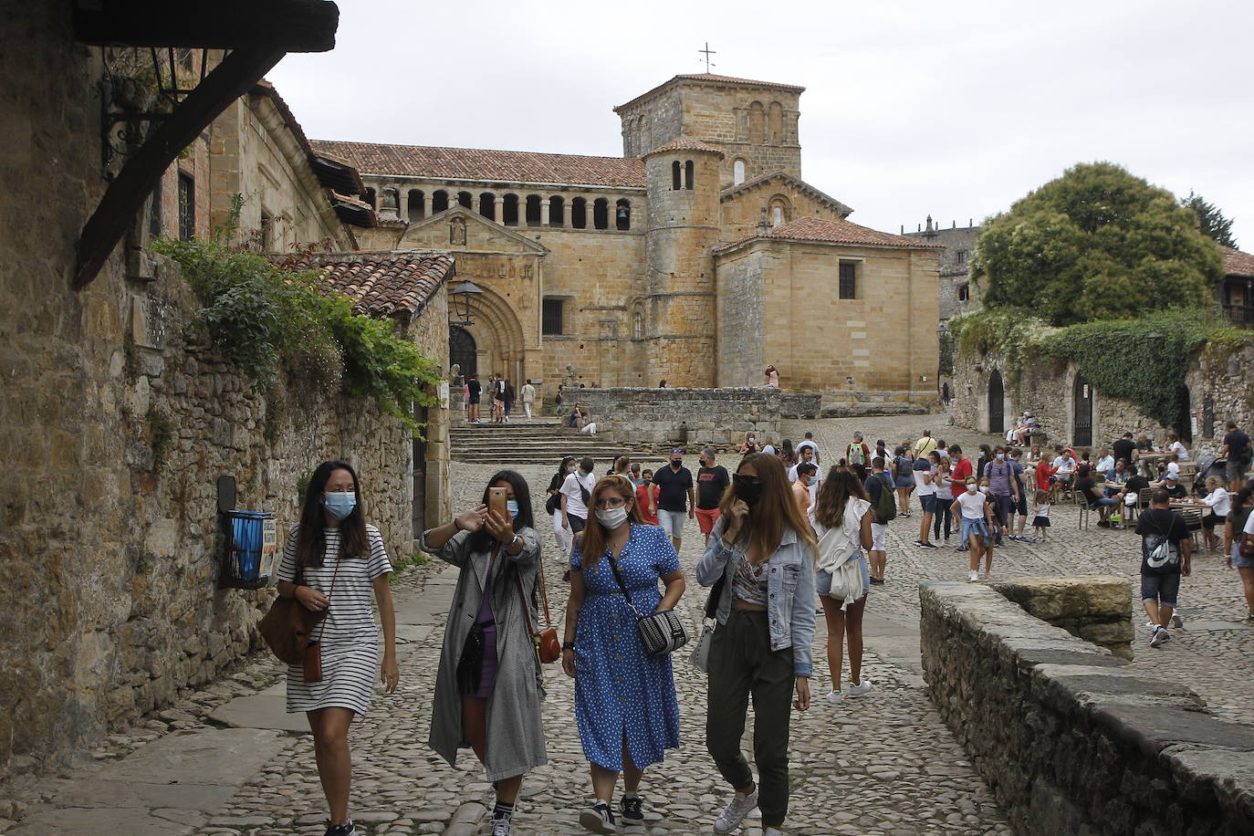
<svg viewBox="0 0 1254 836">
<path fill-rule="evenodd" d="M 754 773 L 740 738 L 754 698 L 754 762 L 762 823 L 779 827 L 788 816 L 788 734 L 793 718 L 793 648 L 771 652 L 766 613 L 736 609 L 710 644 L 706 746 L 724 780 L 749 786 Z"/>
</svg>

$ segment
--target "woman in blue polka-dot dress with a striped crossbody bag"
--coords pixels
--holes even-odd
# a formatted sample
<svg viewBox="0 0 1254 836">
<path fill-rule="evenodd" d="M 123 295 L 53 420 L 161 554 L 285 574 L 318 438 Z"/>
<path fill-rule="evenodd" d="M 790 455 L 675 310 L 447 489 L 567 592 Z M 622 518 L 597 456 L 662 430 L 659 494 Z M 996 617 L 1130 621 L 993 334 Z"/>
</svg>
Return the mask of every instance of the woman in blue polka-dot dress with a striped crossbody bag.
<svg viewBox="0 0 1254 836">
<path fill-rule="evenodd" d="M 660 763 L 665 750 L 680 746 L 671 657 L 645 653 L 636 613 L 673 609 L 683 595 L 683 573 L 666 533 L 641 521 L 631 480 L 606 476 L 593 488 L 589 505 L 594 513 L 571 558 L 562 668 L 574 678 L 574 716 L 596 795 L 579 823 L 594 833 L 612 833 L 618 773 L 624 773 L 623 823 L 643 825 L 638 790 L 645 768 Z"/>
</svg>

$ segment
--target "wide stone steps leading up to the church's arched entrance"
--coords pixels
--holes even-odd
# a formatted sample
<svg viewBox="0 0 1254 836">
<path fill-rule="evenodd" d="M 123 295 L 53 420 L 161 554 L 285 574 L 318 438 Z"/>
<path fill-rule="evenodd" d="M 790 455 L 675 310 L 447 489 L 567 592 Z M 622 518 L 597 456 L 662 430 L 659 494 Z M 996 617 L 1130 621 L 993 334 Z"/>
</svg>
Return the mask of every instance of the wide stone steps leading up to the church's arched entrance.
<svg viewBox="0 0 1254 836">
<path fill-rule="evenodd" d="M 556 470 L 562 456 L 592 456 L 596 473 L 603 473 L 616 456 L 633 451 L 607 435 L 577 432 L 557 419 L 512 417 L 510 424 L 454 424 L 449 429 L 451 459 L 477 465 L 552 465 Z"/>
</svg>

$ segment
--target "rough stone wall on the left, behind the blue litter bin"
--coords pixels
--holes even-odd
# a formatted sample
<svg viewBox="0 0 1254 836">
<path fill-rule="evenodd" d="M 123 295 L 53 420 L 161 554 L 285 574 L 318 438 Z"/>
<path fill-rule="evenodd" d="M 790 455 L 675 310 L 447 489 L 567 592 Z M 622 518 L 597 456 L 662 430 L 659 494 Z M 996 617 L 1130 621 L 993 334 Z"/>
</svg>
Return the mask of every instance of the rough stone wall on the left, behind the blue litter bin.
<svg viewBox="0 0 1254 836">
<path fill-rule="evenodd" d="M 65 761 L 258 647 L 268 593 L 216 583 L 218 475 L 286 533 L 302 479 L 347 457 L 389 550 L 411 541 L 411 441 L 398 422 L 308 381 L 255 391 L 189 336 L 193 300 L 161 258 L 137 277 L 122 246 L 70 290 L 79 232 L 108 185 L 100 55 L 74 41 L 64 4 L 28 5 L 6 25 L 0 776 Z M 201 147 L 181 164 L 202 158 Z"/>
</svg>

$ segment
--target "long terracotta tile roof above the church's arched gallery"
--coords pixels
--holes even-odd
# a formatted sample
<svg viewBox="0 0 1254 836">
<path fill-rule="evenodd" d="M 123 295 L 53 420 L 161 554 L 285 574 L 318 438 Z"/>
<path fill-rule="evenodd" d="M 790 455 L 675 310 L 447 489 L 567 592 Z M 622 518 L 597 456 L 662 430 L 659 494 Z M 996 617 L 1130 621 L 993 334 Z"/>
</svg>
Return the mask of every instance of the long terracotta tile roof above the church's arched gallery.
<svg viewBox="0 0 1254 836">
<path fill-rule="evenodd" d="M 645 163 L 623 157 L 540 154 L 529 150 L 384 145 L 314 140 L 320 154 L 347 160 L 366 174 L 409 174 L 464 180 L 561 183 L 645 188 Z"/>
</svg>

